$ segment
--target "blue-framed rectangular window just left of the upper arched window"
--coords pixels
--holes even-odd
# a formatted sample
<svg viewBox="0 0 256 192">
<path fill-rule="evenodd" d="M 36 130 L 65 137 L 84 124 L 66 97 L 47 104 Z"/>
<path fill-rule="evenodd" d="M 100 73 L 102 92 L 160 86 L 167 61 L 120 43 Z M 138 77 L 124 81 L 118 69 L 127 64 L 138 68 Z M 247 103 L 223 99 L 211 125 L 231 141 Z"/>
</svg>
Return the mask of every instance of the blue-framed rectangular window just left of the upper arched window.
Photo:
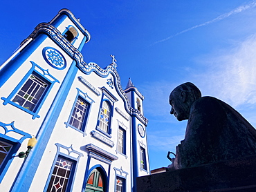
<svg viewBox="0 0 256 192">
<path fill-rule="evenodd" d="M 83 93 L 82 90 L 77 88 L 77 97 L 75 98 L 71 114 L 68 117 L 68 122 L 65 122 L 66 127 L 70 126 L 86 135 L 86 122 L 93 102 L 93 99 L 87 93 Z"/>
</svg>

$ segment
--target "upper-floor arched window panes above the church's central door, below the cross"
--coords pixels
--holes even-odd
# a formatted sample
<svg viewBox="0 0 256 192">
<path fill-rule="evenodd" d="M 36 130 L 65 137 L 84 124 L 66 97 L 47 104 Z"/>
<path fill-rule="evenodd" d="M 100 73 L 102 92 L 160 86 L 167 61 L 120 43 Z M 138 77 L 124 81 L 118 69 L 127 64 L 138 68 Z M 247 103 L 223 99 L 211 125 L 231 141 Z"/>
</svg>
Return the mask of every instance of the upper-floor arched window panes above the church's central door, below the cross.
<svg viewBox="0 0 256 192">
<path fill-rule="evenodd" d="M 106 101 L 104 101 L 102 103 L 102 108 L 100 110 L 99 128 L 106 133 L 108 132 L 108 128 L 109 128 L 109 116 L 110 116 L 110 107 L 109 107 L 109 104 Z"/>
</svg>

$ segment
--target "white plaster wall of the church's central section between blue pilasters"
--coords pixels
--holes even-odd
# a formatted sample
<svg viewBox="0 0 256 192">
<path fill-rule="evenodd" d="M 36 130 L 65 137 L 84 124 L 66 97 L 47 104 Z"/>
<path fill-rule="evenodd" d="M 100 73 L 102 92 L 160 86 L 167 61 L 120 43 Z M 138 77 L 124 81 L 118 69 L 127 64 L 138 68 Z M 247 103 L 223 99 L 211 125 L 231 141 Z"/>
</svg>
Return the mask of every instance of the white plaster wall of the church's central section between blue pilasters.
<svg viewBox="0 0 256 192">
<path fill-rule="evenodd" d="M 90 84 L 92 84 L 95 88 L 97 88 L 101 95 L 95 95 L 89 89 L 87 86 L 82 84 L 77 77 L 82 76 L 86 81 L 89 81 Z M 75 175 L 75 183 L 74 183 L 74 188 L 73 191 L 80 191 L 80 187 L 82 187 L 82 183 L 84 180 L 84 173 L 86 169 L 86 163 L 88 160 L 88 154 L 86 152 L 85 146 L 86 144 L 94 144 L 95 146 L 98 146 L 102 148 L 104 151 L 107 151 L 113 155 L 116 155 L 118 157 L 118 160 L 115 160 L 111 164 L 111 172 L 110 172 L 110 182 L 109 182 L 109 191 L 113 191 L 116 178 L 115 178 L 115 171 L 113 167 L 116 167 L 120 169 L 122 167 L 123 171 L 126 171 L 128 173 L 127 175 L 127 186 L 131 185 L 131 151 L 130 151 L 130 140 L 131 140 L 131 135 L 130 133 L 130 121 L 122 117 L 119 113 L 116 112 L 116 110 L 113 111 L 113 117 L 111 121 L 111 128 L 112 128 L 112 133 L 111 133 L 111 138 L 107 137 L 104 135 L 104 137 L 107 137 L 109 140 L 113 141 L 114 146 L 111 148 L 107 144 L 104 144 L 100 142 L 99 140 L 96 140 L 94 137 L 91 137 L 90 132 L 95 131 L 95 127 L 98 122 L 98 114 L 99 114 L 99 108 L 100 108 L 100 102 L 102 99 L 102 91 L 100 87 L 105 86 L 111 93 L 118 98 L 118 102 L 114 104 L 114 107 L 120 108 L 120 110 L 125 113 L 128 117 L 129 114 L 125 111 L 125 106 L 123 104 L 123 100 L 118 95 L 116 92 L 115 88 L 112 89 L 107 85 L 107 79 L 113 76 L 109 75 L 107 78 L 102 78 L 96 75 L 95 73 L 91 73 L 90 75 L 85 75 L 81 71 L 77 72 L 77 75 L 75 77 L 75 81 L 73 81 L 73 84 L 71 86 L 71 89 L 68 93 L 68 96 L 66 97 L 66 102 L 64 103 L 64 106 L 62 108 L 62 112 L 60 113 L 60 116 L 57 120 L 57 123 L 55 125 L 55 129 L 53 130 L 53 134 L 51 139 L 48 142 L 48 145 L 46 146 L 46 151 L 42 157 L 42 160 L 39 164 L 39 168 L 37 173 L 35 174 L 35 178 L 33 180 L 33 183 L 31 184 L 30 191 L 33 191 L 35 189 L 44 189 L 44 185 L 46 183 L 46 180 L 48 178 L 48 175 L 51 171 L 51 166 L 53 164 L 55 155 L 57 153 L 57 147 L 55 146 L 55 143 L 60 143 L 64 146 L 73 146 L 73 149 L 75 151 L 79 151 L 82 153 L 84 156 L 80 157 L 79 164 L 77 165 L 77 173 Z M 86 126 L 86 135 L 83 136 L 82 133 L 76 131 L 75 129 L 71 127 L 67 127 L 64 124 L 64 122 L 68 121 L 68 117 L 71 113 L 73 104 L 75 102 L 75 98 L 77 96 L 77 89 L 79 88 L 82 90 L 84 93 L 87 93 L 91 99 L 94 100 L 95 103 L 91 104 L 91 112 L 89 114 L 89 119 L 87 120 L 87 126 Z M 118 119 L 118 120 L 117 120 Z M 119 121 L 119 122 L 118 122 Z M 119 153 L 116 153 L 116 146 L 117 146 L 117 137 L 118 137 L 118 125 L 122 124 L 123 128 L 127 129 L 127 145 L 126 145 L 126 150 L 127 150 L 127 158 L 124 155 L 121 155 Z M 97 131 L 98 132 L 98 131 Z M 100 133 L 103 135 L 102 133 Z M 107 164 L 100 162 L 99 160 L 95 160 L 91 158 L 90 162 L 90 168 L 94 166 L 95 164 L 101 164 L 104 166 L 105 171 L 108 174 L 108 166 Z M 89 168 L 89 169 L 90 169 Z M 39 182 L 41 182 L 39 184 Z M 127 187 L 129 189 L 129 187 Z"/>
</svg>

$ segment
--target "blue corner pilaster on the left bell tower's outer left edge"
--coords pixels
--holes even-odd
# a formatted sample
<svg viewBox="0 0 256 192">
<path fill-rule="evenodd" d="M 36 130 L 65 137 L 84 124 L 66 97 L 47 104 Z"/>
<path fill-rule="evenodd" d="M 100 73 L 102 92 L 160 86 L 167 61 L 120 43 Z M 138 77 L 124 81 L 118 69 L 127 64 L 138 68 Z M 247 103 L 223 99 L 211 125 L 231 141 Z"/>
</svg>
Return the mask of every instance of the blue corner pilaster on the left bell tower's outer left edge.
<svg viewBox="0 0 256 192">
<path fill-rule="evenodd" d="M 12 59 L 2 70 L 0 70 L 0 87 L 15 73 L 15 71 L 30 57 L 30 55 L 42 44 L 47 35 L 40 34 L 37 39 L 31 41 L 21 53 Z"/>
</svg>

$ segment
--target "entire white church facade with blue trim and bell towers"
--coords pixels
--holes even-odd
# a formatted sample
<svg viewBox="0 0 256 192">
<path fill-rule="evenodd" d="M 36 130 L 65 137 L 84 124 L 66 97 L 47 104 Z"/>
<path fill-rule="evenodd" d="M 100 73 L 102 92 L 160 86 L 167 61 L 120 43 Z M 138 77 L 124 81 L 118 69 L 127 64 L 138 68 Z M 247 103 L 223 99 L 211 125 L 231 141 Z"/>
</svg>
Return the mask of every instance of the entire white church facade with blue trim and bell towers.
<svg viewBox="0 0 256 192">
<path fill-rule="evenodd" d="M 62 9 L 0 66 L 0 191 L 136 191 L 149 174 L 144 97 L 112 55 L 84 62 L 90 37 Z"/>
</svg>

